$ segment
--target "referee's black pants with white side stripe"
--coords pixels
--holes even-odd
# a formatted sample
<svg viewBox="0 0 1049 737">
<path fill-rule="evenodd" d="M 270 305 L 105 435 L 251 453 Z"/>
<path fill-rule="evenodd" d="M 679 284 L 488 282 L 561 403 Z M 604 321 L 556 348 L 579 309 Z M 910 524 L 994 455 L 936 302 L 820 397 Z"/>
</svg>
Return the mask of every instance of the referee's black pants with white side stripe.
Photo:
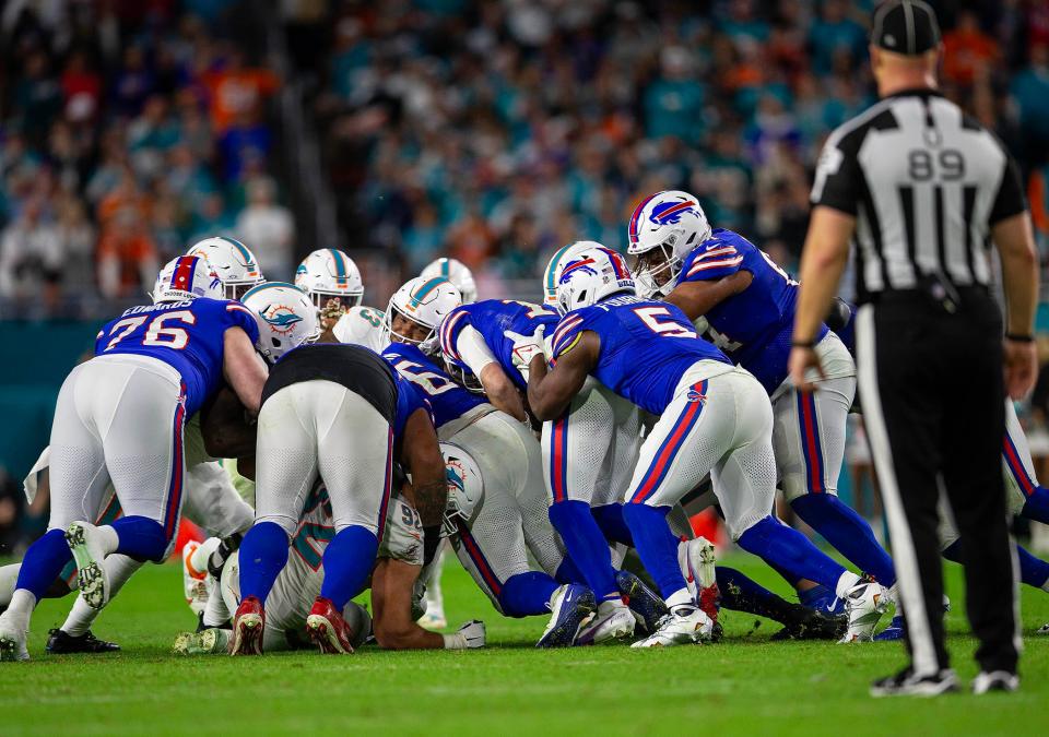
<svg viewBox="0 0 1049 737">
<path fill-rule="evenodd" d="M 1002 325 L 981 289 L 954 314 L 920 294 L 860 308 L 860 401 L 888 520 L 915 671 L 948 667 L 936 532 L 941 485 L 960 533 L 966 614 L 982 670 L 1015 673 L 1014 551 L 1002 478 Z"/>
</svg>

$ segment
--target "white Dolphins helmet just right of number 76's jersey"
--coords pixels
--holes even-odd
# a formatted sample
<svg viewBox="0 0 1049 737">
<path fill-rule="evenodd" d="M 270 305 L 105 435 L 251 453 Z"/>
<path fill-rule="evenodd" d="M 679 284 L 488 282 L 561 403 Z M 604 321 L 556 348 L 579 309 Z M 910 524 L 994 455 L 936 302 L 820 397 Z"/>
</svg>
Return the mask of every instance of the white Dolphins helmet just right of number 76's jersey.
<svg viewBox="0 0 1049 737">
<path fill-rule="evenodd" d="M 255 314 L 259 324 L 259 340 L 255 345 L 271 364 L 292 348 L 313 343 L 320 336 L 317 308 L 294 284 L 260 284 L 248 289 L 240 302 Z"/>
</svg>

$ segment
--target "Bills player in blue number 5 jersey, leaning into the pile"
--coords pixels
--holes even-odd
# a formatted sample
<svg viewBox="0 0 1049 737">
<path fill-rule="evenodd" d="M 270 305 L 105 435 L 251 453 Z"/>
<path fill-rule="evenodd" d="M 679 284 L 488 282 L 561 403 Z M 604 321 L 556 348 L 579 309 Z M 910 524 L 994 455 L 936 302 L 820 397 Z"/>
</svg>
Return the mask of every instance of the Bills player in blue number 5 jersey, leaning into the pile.
<svg viewBox="0 0 1049 737">
<path fill-rule="evenodd" d="M 547 371 L 545 357 L 537 353 L 528 399 L 540 418 L 557 417 L 592 373 L 659 416 L 641 447 L 623 518 L 670 613 L 635 646 L 711 635 L 714 622 L 688 590 L 667 523 L 671 507 L 708 473 L 733 539 L 799 579 L 832 587 L 848 602 L 850 630 L 869 639 L 884 610 L 885 590 L 847 571 L 769 513 L 776 478 L 773 418 L 759 382 L 698 340 L 680 309 L 634 293 L 626 264 L 614 251 L 586 250 L 567 264 L 557 286 L 565 317 L 553 334 L 553 368 Z"/>
</svg>

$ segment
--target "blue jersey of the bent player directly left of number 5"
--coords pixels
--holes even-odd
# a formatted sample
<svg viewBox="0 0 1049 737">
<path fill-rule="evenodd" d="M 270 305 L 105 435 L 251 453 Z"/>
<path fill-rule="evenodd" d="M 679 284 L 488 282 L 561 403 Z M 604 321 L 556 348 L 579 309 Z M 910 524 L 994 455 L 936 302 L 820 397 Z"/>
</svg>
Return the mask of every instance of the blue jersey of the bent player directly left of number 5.
<svg viewBox="0 0 1049 737">
<path fill-rule="evenodd" d="M 485 344 L 506 375 L 518 389 L 526 390 L 528 384 L 521 377 L 520 370 L 514 365 L 514 338 L 507 333 L 532 335 L 539 325 L 545 324 L 550 334 L 550 329 L 557 323 L 557 312 L 542 305 L 512 299 L 485 299 L 457 307 L 445 318 L 440 323 L 440 347 L 446 357 L 469 371 L 470 367 L 459 356 L 456 342 L 463 328 L 473 325 L 484 337 Z"/>
</svg>

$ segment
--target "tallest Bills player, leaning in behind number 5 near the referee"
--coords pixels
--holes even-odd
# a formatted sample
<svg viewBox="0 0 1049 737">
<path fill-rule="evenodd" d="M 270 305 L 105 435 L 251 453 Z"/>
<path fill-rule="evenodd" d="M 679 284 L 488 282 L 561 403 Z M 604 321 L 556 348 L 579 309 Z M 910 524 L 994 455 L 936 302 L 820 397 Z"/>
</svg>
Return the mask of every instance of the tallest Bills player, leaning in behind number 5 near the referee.
<svg viewBox="0 0 1049 737">
<path fill-rule="evenodd" d="M 687 192 L 643 200 L 628 238 L 640 294 L 664 299 L 689 320 L 703 318 L 706 337 L 765 387 L 779 485 L 798 516 L 880 583 L 895 584 L 893 561 L 870 524 L 837 496 L 856 394 L 852 357 L 824 325 L 816 345 L 824 367 L 818 391 L 799 392 L 787 378 L 797 282 L 742 236 L 711 229 Z M 813 605 L 828 594 L 815 589 L 801 598 Z"/>
</svg>

